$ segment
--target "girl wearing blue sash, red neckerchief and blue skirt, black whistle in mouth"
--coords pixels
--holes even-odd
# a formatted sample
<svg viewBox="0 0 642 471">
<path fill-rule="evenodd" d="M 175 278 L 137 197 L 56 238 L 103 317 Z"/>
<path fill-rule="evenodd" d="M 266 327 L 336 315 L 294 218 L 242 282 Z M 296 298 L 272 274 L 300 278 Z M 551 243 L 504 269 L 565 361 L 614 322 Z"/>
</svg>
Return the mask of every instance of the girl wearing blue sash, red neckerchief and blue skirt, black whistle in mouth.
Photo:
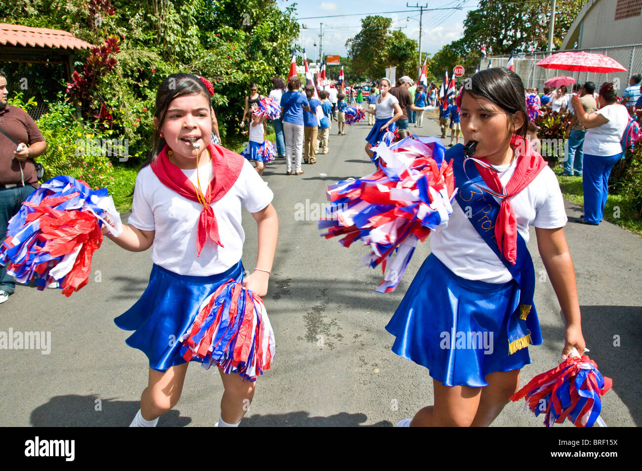
<svg viewBox="0 0 642 471">
<path fill-rule="evenodd" d="M 456 145 L 444 157 L 458 188 L 453 214 L 386 326 L 392 350 L 429 369 L 435 404 L 397 426 L 488 426 L 517 391 L 528 344 L 542 343 L 529 226 L 564 312 L 562 359 L 585 347 L 564 201 L 525 139 L 521 79 L 485 69 L 462 90 L 467 156 Z"/>
</svg>

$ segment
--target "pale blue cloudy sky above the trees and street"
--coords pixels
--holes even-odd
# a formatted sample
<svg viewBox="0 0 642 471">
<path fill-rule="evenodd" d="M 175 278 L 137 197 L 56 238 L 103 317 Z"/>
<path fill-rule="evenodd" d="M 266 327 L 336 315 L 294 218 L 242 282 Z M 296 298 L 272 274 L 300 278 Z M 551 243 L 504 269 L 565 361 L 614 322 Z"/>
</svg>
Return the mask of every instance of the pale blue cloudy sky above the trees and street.
<svg viewBox="0 0 642 471">
<path fill-rule="evenodd" d="M 282 8 L 291 5 L 290 0 L 280 0 Z M 478 0 L 424 0 L 423 2 L 408 1 L 408 4 L 426 5 L 428 8 L 448 8 L 453 6 L 462 6 L 462 10 L 424 10 L 422 21 L 422 42 L 421 49 L 424 52 L 435 54 L 445 44 L 459 39 L 464 33 L 464 19 L 466 13 L 474 10 L 478 5 Z M 362 4 L 359 9 L 354 8 L 355 4 Z M 301 30 L 299 43 L 306 48 L 306 55 L 309 59 L 316 58 L 319 55 L 319 31 L 320 22 L 323 23 L 323 50 L 326 54 L 338 54 L 345 56 L 345 41 L 354 37 L 361 30 L 361 19 L 369 14 L 379 13 L 393 20 L 394 28 L 402 28 L 406 36 L 410 39 L 419 40 L 419 10 L 416 8 L 406 8 L 406 1 L 383 1 L 368 0 L 363 2 L 346 2 L 329 1 L 329 0 L 301 0 L 296 2 L 297 15 L 299 24 L 306 24 L 307 29 Z M 397 13 L 381 13 L 395 12 Z M 363 13 L 362 15 L 343 16 L 336 18 L 313 18 L 324 15 L 352 15 L 354 13 Z M 410 20 L 408 20 L 410 18 Z M 317 47 L 314 43 L 317 43 Z"/>
</svg>

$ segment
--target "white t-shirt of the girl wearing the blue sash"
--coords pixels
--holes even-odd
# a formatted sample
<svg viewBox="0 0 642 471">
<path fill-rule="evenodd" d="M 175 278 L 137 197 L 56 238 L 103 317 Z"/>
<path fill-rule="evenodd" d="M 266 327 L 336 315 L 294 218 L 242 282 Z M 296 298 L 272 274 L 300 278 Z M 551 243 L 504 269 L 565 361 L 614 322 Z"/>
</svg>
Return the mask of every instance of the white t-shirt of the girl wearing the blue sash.
<svg viewBox="0 0 642 471">
<path fill-rule="evenodd" d="M 516 168 L 510 165 L 495 166 L 500 171 L 499 181 L 507 184 Z M 496 198 L 499 202 L 499 199 Z M 530 184 L 510 199 L 517 219 L 517 232 L 528 243 L 528 227 L 555 229 L 566 225 L 564 199 L 557 177 L 546 166 Z M 446 267 L 466 280 L 487 283 L 507 283 L 512 276 L 499 257 L 490 249 L 482 236 L 468 220 L 465 209 L 453 201 L 453 214 L 444 228 L 432 235 L 430 250 Z M 470 213 L 470 210 L 468 210 Z M 494 221 L 493 221 L 494 223 Z"/>
</svg>

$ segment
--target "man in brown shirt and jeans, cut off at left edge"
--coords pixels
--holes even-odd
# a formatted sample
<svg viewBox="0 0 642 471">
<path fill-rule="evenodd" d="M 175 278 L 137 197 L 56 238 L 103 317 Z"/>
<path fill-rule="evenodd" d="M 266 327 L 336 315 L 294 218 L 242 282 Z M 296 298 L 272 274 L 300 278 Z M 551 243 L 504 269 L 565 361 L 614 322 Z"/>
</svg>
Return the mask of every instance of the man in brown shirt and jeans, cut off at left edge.
<svg viewBox="0 0 642 471">
<path fill-rule="evenodd" d="M 24 110 L 7 103 L 6 74 L 0 69 L 0 237 L 6 238 L 9 220 L 38 187 L 35 163 L 47 143 Z M 20 149 L 20 150 L 18 150 Z M 15 290 L 15 278 L 0 266 L 0 303 Z"/>
</svg>

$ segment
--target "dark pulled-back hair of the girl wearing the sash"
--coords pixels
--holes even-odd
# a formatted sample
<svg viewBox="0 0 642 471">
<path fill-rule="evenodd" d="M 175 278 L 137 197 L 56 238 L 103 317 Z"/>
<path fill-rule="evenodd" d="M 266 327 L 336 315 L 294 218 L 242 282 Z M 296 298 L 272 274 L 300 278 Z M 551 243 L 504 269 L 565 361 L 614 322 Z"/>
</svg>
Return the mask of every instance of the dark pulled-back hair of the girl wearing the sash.
<svg viewBox="0 0 642 471">
<path fill-rule="evenodd" d="M 528 120 L 526 116 L 526 100 L 524 100 L 524 84 L 519 75 L 506 67 L 483 69 L 469 78 L 463 93 L 470 93 L 474 98 L 485 98 L 495 103 L 508 114 L 508 121 L 521 111 L 524 123 L 513 134 L 526 137 Z"/>
</svg>

